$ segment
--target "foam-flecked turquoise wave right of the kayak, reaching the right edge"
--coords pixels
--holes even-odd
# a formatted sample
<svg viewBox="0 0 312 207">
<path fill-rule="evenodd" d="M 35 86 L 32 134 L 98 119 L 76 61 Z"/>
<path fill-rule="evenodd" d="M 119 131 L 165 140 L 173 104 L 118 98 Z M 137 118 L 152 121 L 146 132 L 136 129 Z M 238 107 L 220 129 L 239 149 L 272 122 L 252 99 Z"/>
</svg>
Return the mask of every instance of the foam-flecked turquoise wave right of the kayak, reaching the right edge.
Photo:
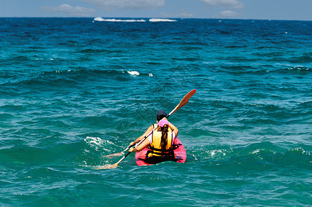
<svg viewBox="0 0 312 207">
<path fill-rule="evenodd" d="M 309 146 L 305 146 L 309 148 Z M 209 161 L 217 166 L 253 167 L 271 166 L 311 168 L 311 151 L 303 147 L 287 149 L 269 141 L 248 146 L 209 146 L 208 149 L 188 150 L 192 157 L 189 161 Z"/>
</svg>

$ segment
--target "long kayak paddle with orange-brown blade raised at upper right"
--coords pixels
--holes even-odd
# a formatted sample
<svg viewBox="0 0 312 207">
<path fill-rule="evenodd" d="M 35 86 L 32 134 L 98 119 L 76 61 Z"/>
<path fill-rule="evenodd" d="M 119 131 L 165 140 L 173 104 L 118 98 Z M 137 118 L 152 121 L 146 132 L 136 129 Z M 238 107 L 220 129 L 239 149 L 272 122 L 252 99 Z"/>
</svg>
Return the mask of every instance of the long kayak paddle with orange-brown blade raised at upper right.
<svg viewBox="0 0 312 207">
<path fill-rule="evenodd" d="M 177 106 L 175 106 L 175 108 L 168 114 L 167 118 L 170 117 L 170 115 L 173 115 L 175 112 L 177 112 L 177 110 L 179 110 L 180 108 L 185 106 L 188 103 L 188 100 L 195 94 L 195 92 L 196 92 L 196 89 L 193 89 L 190 92 L 188 92 L 188 94 L 183 97 L 183 99 L 180 101 L 180 103 L 177 104 Z M 155 130 L 156 128 L 157 127 L 155 127 L 153 130 Z M 151 130 L 148 133 L 148 135 L 146 135 L 141 141 L 139 141 L 139 143 L 136 146 L 139 146 L 139 144 L 141 144 L 153 132 L 153 130 Z M 126 150 L 130 149 L 130 147 L 132 147 L 132 146 L 128 146 L 128 148 Z M 124 150 L 124 151 L 126 151 L 126 150 Z M 117 161 L 117 163 L 111 164 L 111 165 L 108 165 L 108 166 L 103 166 L 103 167 L 101 167 L 99 169 L 117 168 L 118 164 L 121 163 L 121 161 L 123 161 L 130 153 L 131 152 L 128 152 L 126 155 L 124 155 L 124 157 L 119 159 L 119 161 Z"/>
</svg>

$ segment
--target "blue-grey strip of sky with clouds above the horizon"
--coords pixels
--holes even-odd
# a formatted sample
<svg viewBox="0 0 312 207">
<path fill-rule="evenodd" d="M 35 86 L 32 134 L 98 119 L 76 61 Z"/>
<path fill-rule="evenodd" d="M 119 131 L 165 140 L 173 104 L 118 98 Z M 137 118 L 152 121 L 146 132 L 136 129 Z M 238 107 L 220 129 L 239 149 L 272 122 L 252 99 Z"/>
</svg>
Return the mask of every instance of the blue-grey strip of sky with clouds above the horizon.
<svg viewBox="0 0 312 207">
<path fill-rule="evenodd" d="M 155 17 L 312 21 L 312 0 L 0 0 L 0 17 Z"/>
</svg>

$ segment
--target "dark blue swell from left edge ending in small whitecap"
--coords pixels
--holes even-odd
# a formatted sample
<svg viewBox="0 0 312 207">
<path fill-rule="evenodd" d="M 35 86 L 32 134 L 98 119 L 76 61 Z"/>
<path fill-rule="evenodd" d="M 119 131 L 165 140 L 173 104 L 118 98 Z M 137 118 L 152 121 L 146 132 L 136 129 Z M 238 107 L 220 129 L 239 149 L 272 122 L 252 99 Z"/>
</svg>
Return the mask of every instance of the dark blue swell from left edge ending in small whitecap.
<svg viewBox="0 0 312 207">
<path fill-rule="evenodd" d="M 1 76 L 1 74 L 0 74 Z M 30 72 L 23 76 L 12 76 L 0 79 L 0 95 L 21 95 L 32 92 L 60 92 L 66 90 L 77 91 L 81 86 L 94 90 L 96 87 L 117 90 L 123 83 L 130 83 L 135 77 L 153 78 L 152 72 L 138 70 L 106 69 L 89 70 L 69 69 L 51 70 L 46 72 Z M 5 74 L 3 77 L 7 77 Z M 110 81 L 107 84 L 106 81 Z M 147 80 L 146 80 L 147 81 Z M 130 84 L 133 84 L 132 82 Z"/>
</svg>

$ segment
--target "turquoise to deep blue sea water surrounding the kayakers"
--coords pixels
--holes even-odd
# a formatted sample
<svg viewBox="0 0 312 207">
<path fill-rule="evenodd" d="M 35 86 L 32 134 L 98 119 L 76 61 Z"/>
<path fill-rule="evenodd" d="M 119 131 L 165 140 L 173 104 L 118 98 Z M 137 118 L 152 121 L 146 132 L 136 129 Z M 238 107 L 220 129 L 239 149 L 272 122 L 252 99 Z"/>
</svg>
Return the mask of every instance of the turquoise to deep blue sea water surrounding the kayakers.
<svg viewBox="0 0 312 207">
<path fill-rule="evenodd" d="M 312 21 L 103 20 L 0 19 L 0 206 L 311 206 Z M 194 88 L 185 164 L 98 170 Z"/>
</svg>

